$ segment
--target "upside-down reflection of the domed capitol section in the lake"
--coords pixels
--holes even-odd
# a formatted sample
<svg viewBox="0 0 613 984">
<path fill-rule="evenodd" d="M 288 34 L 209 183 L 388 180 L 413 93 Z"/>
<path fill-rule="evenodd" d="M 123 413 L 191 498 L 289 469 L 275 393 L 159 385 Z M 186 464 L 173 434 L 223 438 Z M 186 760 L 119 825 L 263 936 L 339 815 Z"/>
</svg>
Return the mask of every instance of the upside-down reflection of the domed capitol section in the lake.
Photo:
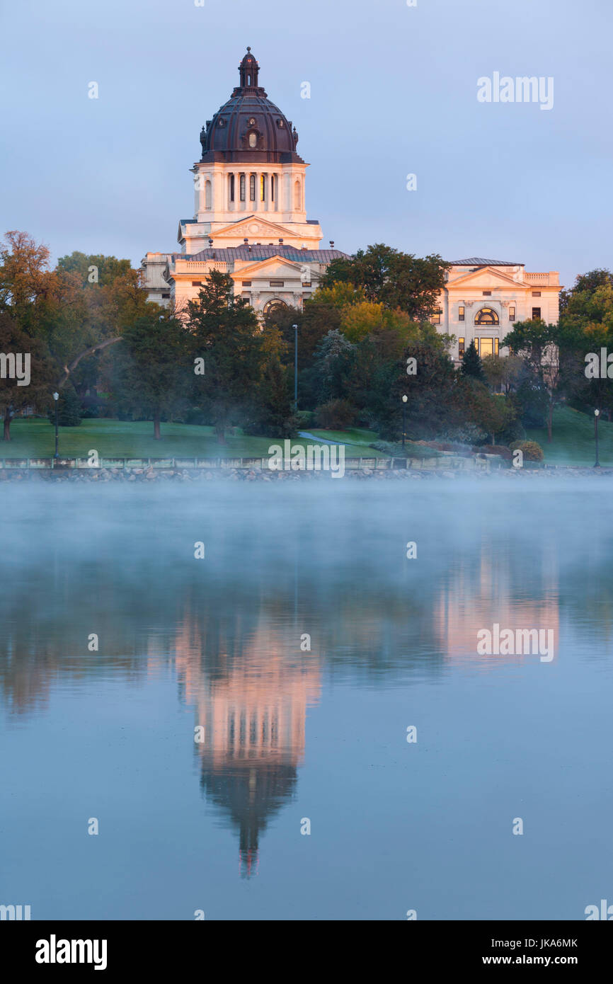
<svg viewBox="0 0 613 984">
<path fill-rule="evenodd" d="M 299 636 L 279 631 L 261 613 L 242 651 L 229 654 L 215 634 L 215 673 L 202 658 L 186 617 L 176 641 L 176 671 L 185 701 L 203 731 L 195 743 L 207 799 L 239 835 L 239 868 L 256 874 L 260 837 L 295 792 L 305 750 L 309 706 L 320 698 L 319 657 L 301 652 Z"/>
</svg>

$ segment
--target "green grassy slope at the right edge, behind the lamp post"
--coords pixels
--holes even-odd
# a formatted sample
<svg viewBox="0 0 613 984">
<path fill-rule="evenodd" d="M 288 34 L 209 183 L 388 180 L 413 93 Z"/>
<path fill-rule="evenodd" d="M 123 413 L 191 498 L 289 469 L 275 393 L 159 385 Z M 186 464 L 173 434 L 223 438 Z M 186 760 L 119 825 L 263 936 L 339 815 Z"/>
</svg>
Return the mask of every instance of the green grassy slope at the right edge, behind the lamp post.
<svg viewBox="0 0 613 984">
<path fill-rule="evenodd" d="M 534 427 L 526 431 L 531 441 L 538 441 L 548 464 L 593 464 L 596 460 L 593 414 L 587 415 L 570 406 L 554 410 L 552 441 L 547 442 L 547 428 Z M 600 463 L 613 466 L 613 423 L 598 422 Z"/>
</svg>

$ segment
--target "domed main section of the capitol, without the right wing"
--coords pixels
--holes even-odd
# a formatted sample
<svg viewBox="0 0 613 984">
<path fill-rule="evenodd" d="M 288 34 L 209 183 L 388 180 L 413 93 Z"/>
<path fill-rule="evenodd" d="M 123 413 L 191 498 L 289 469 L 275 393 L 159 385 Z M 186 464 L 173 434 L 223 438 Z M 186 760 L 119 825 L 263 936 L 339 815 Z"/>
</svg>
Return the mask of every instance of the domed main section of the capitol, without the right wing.
<svg viewBox="0 0 613 984">
<path fill-rule="evenodd" d="M 298 134 L 260 86 L 247 48 L 239 85 L 207 120 L 192 167 L 194 217 L 179 221 L 177 253 L 143 260 L 149 299 L 177 310 L 196 300 L 212 270 L 258 311 L 301 308 L 328 264 L 345 254 L 320 249 L 322 229 L 306 212 L 306 169 Z"/>
</svg>

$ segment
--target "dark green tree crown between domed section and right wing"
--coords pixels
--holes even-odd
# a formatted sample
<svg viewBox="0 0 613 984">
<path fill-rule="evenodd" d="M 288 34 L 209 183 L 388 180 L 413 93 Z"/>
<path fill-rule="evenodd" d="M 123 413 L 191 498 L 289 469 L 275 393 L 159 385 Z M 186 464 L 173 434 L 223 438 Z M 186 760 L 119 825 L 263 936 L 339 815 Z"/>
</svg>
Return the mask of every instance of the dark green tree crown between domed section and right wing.
<svg viewBox="0 0 613 984">
<path fill-rule="evenodd" d="M 320 287 L 353 284 L 364 291 L 367 300 L 399 308 L 412 321 L 421 321 L 436 310 L 448 269 L 449 264 L 438 255 L 419 258 L 377 243 L 349 259 L 333 260 Z"/>
</svg>

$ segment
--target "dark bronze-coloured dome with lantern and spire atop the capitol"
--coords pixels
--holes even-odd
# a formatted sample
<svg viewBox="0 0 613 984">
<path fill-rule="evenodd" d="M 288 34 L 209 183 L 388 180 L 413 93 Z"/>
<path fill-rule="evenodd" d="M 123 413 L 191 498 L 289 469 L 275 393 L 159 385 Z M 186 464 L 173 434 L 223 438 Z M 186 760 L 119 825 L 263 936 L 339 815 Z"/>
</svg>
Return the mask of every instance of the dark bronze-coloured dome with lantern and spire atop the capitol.
<svg viewBox="0 0 613 984">
<path fill-rule="evenodd" d="M 296 160 L 298 134 L 258 85 L 260 66 L 247 48 L 238 66 L 240 85 L 202 128 L 201 160 L 285 163 Z"/>
</svg>

